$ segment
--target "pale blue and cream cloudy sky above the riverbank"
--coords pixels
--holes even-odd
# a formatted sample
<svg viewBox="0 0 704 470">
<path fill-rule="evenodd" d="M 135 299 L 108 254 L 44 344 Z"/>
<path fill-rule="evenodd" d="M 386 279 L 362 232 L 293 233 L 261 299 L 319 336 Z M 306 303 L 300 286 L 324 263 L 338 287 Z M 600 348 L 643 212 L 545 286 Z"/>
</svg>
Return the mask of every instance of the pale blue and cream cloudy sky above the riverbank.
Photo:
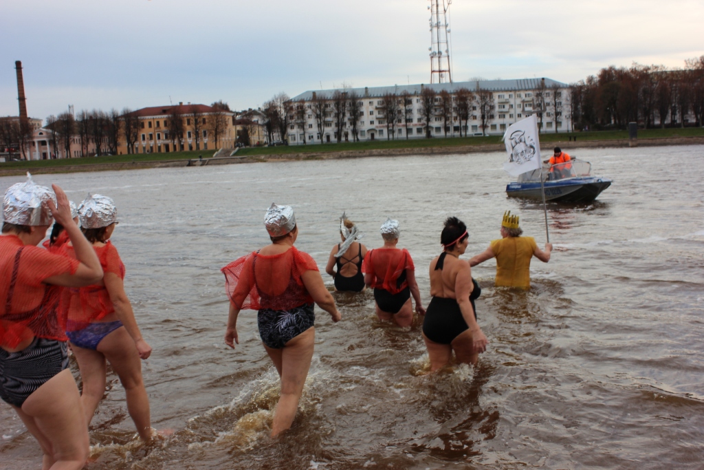
<svg viewBox="0 0 704 470">
<path fill-rule="evenodd" d="M 447 0 L 446 0 L 447 1 Z M 0 116 L 73 105 L 232 109 L 276 94 L 430 81 L 429 0 L 0 0 Z M 704 55 L 703 0 L 453 0 L 453 81 L 576 82 Z"/>
</svg>

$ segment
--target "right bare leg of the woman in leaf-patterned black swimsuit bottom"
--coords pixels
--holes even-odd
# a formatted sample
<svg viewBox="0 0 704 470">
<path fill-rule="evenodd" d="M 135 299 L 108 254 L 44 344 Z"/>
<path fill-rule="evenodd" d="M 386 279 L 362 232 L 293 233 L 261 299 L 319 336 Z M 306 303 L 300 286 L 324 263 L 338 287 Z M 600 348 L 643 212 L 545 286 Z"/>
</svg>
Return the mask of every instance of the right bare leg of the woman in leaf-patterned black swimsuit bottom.
<svg viewBox="0 0 704 470">
<path fill-rule="evenodd" d="M 310 360 L 313 359 L 315 328 L 311 327 L 289 340 L 281 351 L 281 397 L 276 405 L 271 435 L 274 437 L 291 427 L 306 384 Z M 269 351 L 269 349 L 267 349 Z"/>
</svg>

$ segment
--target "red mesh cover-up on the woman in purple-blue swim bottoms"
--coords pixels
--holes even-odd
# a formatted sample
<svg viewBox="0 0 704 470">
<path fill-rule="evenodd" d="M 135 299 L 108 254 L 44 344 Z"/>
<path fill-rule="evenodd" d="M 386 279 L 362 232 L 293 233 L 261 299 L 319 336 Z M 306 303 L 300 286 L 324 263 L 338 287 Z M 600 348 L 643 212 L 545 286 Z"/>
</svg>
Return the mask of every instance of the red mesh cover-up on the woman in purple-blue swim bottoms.
<svg viewBox="0 0 704 470">
<path fill-rule="evenodd" d="M 122 264 L 118 249 L 109 240 L 102 247 L 93 247 L 100 260 L 103 273 L 114 273 L 125 279 L 125 264 Z M 63 254 L 75 259 L 73 246 L 64 245 Z M 68 310 L 67 331 L 86 328 L 90 323 L 99 321 L 115 311 L 110 294 L 105 285 L 89 285 L 87 287 L 71 287 L 65 289 L 62 309 Z"/>
</svg>

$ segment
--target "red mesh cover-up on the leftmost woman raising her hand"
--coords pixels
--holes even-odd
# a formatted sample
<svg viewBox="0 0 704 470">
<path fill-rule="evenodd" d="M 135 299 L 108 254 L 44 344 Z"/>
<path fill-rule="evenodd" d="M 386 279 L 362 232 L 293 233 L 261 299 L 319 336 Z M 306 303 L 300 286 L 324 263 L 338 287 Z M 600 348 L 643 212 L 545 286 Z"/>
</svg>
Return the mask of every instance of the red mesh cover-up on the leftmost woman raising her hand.
<svg viewBox="0 0 704 470">
<path fill-rule="evenodd" d="M 61 287 L 43 281 L 75 274 L 80 263 L 46 249 L 0 236 L 0 346 L 13 349 L 37 336 L 65 341 L 65 316 L 58 313 Z"/>
</svg>

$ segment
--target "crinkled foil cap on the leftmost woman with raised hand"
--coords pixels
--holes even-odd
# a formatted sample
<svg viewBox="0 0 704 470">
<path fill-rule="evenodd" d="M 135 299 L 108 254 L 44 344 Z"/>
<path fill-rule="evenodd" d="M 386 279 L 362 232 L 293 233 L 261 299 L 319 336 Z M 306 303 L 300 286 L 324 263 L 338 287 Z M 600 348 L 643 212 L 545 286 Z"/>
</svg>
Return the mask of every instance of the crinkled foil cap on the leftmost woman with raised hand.
<svg viewBox="0 0 704 470">
<path fill-rule="evenodd" d="M 27 172 L 25 183 L 16 183 L 5 192 L 2 202 L 3 221 L 14 225 L 51 225 L 47 202 L 56 205 L 56 195 L 48 187 L 35 185 L 32 175 Z"/>
</svg>

